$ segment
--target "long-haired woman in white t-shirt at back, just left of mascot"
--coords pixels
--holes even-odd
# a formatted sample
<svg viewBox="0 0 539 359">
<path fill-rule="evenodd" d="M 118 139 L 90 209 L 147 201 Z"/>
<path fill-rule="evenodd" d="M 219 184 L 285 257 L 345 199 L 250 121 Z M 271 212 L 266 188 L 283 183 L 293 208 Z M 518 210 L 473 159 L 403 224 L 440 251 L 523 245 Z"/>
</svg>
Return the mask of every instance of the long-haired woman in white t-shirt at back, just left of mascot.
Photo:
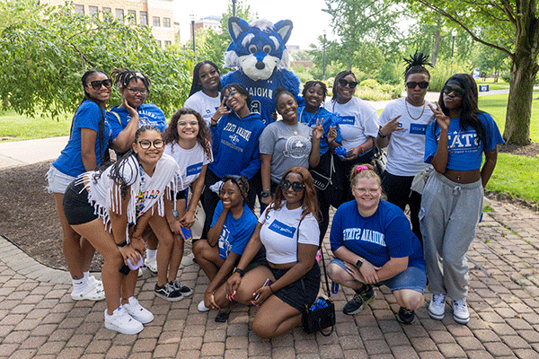
<svg viewBox="0 0 539 359">
<path fill-rule="evenodd" d="M 201 61 L 193 69 L 193 82 L 189 98 L 183 107 L 194 109 L 210 125 L 210 118 L 221 104 L 221 78 L 216 64 L 209 60 Z"/>
</svg>

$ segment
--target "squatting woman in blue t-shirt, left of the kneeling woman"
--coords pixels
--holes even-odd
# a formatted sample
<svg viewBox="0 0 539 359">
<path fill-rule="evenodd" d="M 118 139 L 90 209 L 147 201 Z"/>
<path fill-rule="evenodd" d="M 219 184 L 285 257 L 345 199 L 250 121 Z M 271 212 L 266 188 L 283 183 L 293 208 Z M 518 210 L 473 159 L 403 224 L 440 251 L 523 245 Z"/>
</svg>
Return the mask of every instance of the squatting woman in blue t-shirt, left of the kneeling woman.
<svg viewBox="0 0 539 359">
<path fill-rule="evenodd" d="M 256 215 L 245 204 L 248 193 L 249 182 L 245 176 L 223 177 L 208 240 L 193 243 L 195 258 L 210 280 L 204 300 L 199 302 L 199 311 L 218 310 L 230 304 L 225 297 L 225 281 L 242 257 L 257 223 Z M 222 311 L 216 321 L 224 322 L 227 318 L 228 312 Z"/>
</svg>

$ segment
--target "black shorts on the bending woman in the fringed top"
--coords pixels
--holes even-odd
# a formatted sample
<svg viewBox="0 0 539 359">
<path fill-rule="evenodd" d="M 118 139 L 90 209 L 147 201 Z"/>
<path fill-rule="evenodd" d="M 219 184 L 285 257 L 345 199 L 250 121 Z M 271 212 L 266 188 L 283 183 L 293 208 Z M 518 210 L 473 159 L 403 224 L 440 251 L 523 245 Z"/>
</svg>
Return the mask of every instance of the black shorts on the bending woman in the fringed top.
<svg viewBox="0 0 539 359">
<path fill-rule="evenodd" d="M 64 215 L 70 225 L 84 224 L 99 218 L 95 215 L 93 206 L 88 202 L 88 191 L 84 188 L 84 183 L 75 185 L 71 182 L 64 193 Z"/>
</svg>

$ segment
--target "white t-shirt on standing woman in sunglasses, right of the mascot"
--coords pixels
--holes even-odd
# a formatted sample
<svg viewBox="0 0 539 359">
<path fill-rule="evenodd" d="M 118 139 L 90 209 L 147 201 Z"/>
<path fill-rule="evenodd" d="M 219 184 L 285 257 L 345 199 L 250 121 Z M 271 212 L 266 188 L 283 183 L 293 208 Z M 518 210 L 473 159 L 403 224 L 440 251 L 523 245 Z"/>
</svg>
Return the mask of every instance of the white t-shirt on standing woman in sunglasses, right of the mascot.
<svg viewBox="0 0 539 359">
<path fill-rule="evenodd" d="M 357 97 L 343 104 L 330 100 L 323 107 L 339 115 L 334 120 L 340 127 L 341 144 L 347 150 L 358 147 L 369 136 L 376 137 L 378 134 L 378 112 L 366 101 Z"/>
</svg>

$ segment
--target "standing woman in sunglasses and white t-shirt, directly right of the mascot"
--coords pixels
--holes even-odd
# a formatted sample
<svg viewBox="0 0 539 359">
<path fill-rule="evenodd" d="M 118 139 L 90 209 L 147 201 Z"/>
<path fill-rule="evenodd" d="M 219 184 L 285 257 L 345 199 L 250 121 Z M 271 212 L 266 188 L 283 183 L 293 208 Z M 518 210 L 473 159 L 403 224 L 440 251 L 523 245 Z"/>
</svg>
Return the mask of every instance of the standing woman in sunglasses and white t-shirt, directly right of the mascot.
<svg viewBox="0 0 539 359">
<path fill-rule="evenodd" d="M 354 96 L 357 86 L 354 73 L 340 72 L 333 83 L 333 97 L 324 104 L 325 109 L 337 115 L 335 123 L 340 127 L 342 147 L 347 150 L 344 161 L 336 167 L 342 178 L 347 178 L 349 171 L 358 163 L 371 162 L 378 132 L 378 112 L 366 101 Z M 353 199 L 348 189 L 349 183 L 344 187 L 342 201 Z"/>
</svg>

